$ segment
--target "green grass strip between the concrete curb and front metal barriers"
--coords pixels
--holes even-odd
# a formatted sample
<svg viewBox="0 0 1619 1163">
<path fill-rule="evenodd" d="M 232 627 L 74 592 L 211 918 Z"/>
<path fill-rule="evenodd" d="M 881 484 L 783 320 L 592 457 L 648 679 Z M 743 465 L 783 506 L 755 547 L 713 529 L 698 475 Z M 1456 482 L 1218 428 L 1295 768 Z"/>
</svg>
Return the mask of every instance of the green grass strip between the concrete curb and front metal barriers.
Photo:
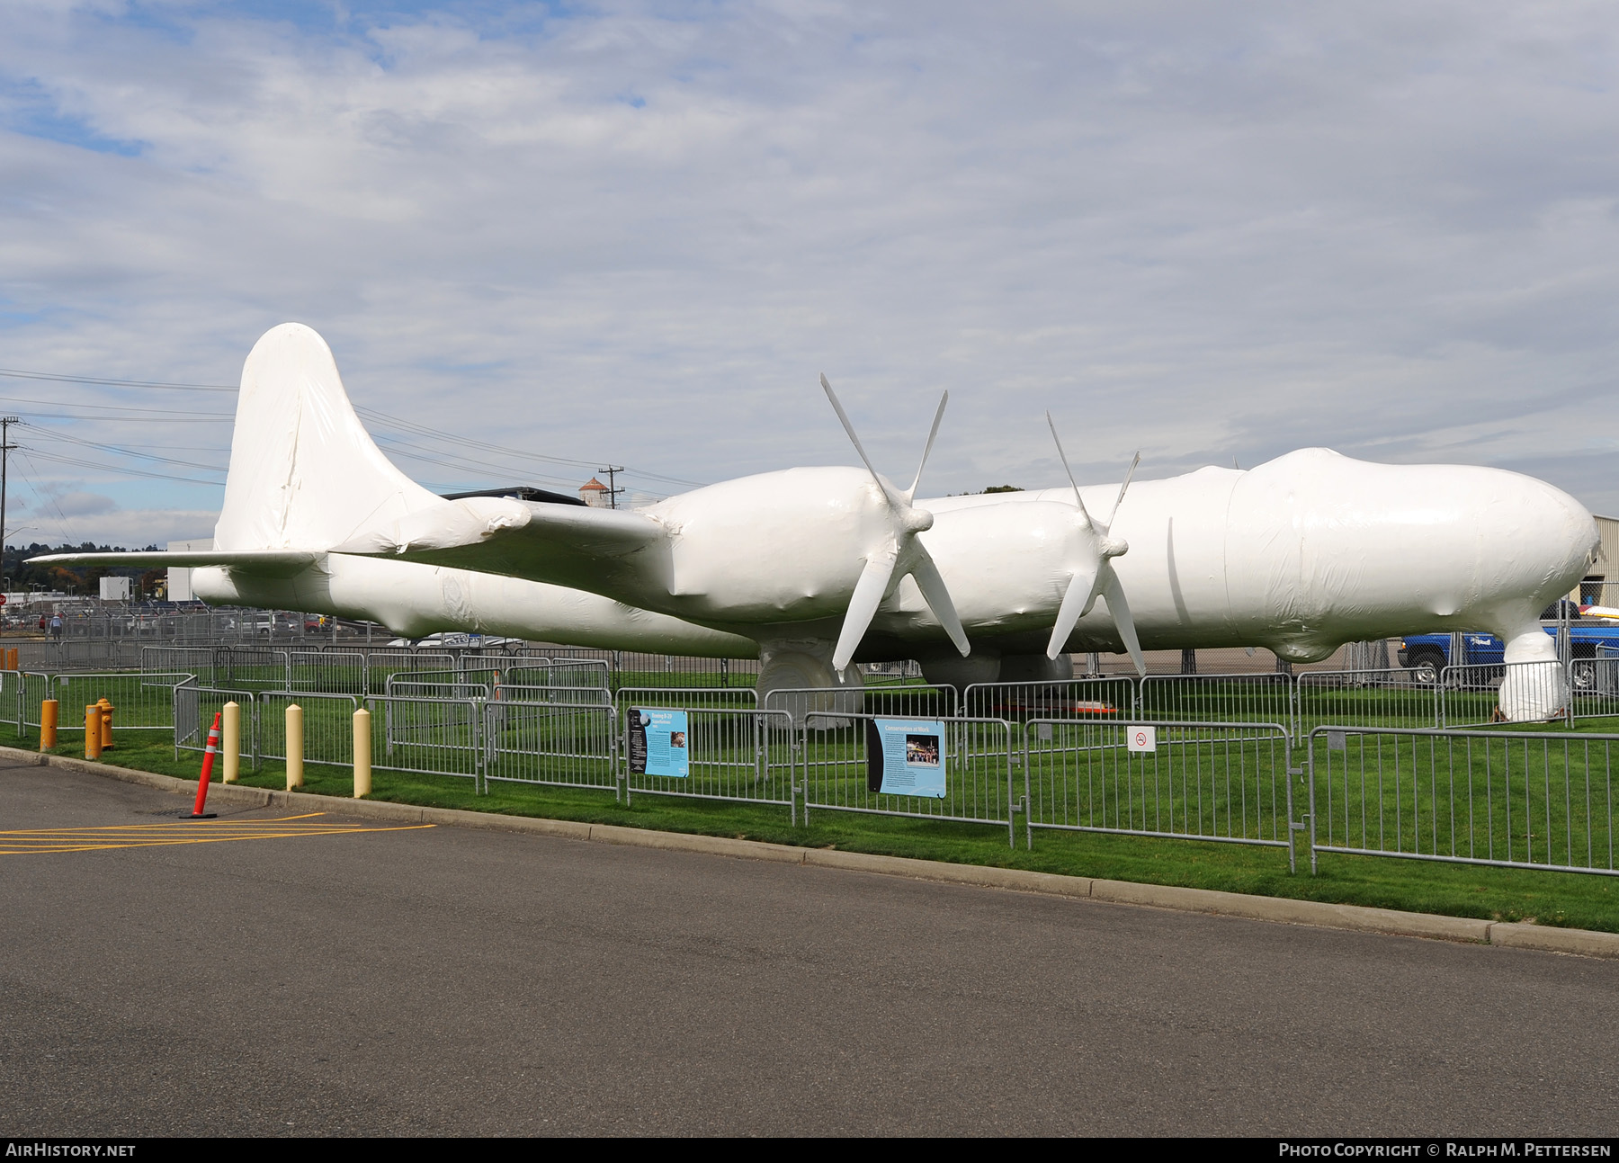
<svg viewBox="0 0 1619 1163">
<path fill-rule="evenodd" d="M 37 747 L 37 734 L 16 745 Z M 83 755 L 83 734 L 63 731 L 57 753 Z M 170 735 L 160 731 L 120 732 L 118 747 L 102 761 L 186 779 L 196 779 L 201 766 L 194 752 L 176 761 Z M 348 797 L 353 786 L 346 769 L 316 763 L 306 766 L 304 781 L 304 790 L 334 797 Z M 285 787 L 285 768 L 266 763 L 243 784 Z M 1619 931 L 1619 878 L 1611 876 L 1331 854 L 1321 857 L 1319 875 L 1310 876 L 1303 844 L 1300 873 L 1289 875 L 1284 850 L 1235 844 L 1044 831 L 1028 850 L 1022 834 L 1018 847 L 1009 849 L 1004 826 L 818 812 L 808 826 L 793 828 L 785 807 L 654 795 L 636 795 L 625 805 L 610 792 L 504 782 L 476 795 L 470 779 L 392 771 L 376 771 L 372 789 L 372 799 L 424 807 Z"/>
</svg>

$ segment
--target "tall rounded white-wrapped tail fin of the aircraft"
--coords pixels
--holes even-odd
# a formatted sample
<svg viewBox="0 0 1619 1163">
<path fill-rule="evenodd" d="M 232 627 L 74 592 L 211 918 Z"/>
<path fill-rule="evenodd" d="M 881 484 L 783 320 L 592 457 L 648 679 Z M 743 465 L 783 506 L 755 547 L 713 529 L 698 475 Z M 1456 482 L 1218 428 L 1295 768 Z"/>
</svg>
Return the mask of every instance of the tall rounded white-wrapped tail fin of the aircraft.
<svg viewBox="0 0 1619 1163">
<path fill-rule="evenodd" d="M 332 549 L 442 504 L 377 449 L 319 334 L 283 322 L 253 345 L 217 549 Z"/>
</svg>

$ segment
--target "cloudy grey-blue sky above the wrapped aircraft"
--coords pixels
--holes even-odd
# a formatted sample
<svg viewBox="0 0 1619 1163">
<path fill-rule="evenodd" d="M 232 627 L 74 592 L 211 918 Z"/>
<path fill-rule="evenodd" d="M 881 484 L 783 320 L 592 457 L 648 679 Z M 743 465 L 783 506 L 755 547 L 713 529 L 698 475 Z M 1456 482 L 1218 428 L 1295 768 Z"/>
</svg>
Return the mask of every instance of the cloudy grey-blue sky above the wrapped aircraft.
<svg viewBox="0 0 1619 1163">
<path fill-rule="evenodd" d="M 950 390 L 924 494 L 1057 483 L 1051 410 L 1091 481 L 1323 444 L 1619 512 L 1606 3 L 0 18 L 13 544 L 210 533 L 288 319 L 444 491 L 850 463 L 826 371 L 894 476 Z"/>
</svg>

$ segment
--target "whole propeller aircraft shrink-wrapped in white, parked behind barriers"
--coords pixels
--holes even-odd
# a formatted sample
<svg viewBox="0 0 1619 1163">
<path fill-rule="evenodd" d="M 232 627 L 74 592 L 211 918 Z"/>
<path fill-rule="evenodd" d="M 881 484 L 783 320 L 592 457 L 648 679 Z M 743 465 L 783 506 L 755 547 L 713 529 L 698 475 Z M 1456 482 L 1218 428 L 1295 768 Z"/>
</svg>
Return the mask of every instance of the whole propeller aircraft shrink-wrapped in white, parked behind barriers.
<svg viewBox="0 0 1619 1163">
<path fill-rule="evenodd" d="M 1067 677 L 1069 651 L 1140 667 L 1141 650 L 1264 646 L 1308 662 L 1345 641 L 1489 630 L 1509 662 L 1545 664 L 1512 669 L 1502 711 L 1561 706 L 1538 616 L 1587 573 L 1598 535 L 1543 481 L 1305 449 L 1247 471 L 921 501 L 921 468 L 910 488 L 877 473 L 822 386 L 863 468 L 788 468 L 636 510 L 445 499 L 377 449 L 325 342 L 282 324 L 241 373 L 212 551 L 36 560 L 196 567 L 206 601 L 413 637 L 758 656 L 761 690 L 855 684 L 858 661 L 918 659 L 965 684 Z"/>
</svg>

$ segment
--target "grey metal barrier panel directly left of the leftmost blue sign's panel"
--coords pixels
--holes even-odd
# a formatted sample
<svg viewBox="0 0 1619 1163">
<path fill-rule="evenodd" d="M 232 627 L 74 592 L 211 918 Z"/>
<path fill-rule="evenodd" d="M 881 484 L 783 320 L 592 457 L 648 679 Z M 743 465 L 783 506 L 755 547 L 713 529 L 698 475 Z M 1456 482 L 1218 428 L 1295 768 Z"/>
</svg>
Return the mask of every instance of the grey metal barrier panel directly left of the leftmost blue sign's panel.
<svg viewBox="0 0 1619 1163">
<path fill-rule="evenodd" d="M 484 703 L 484 784 L 552 784 L 618 795 L 612 697 L 594 705 L 512 698 Z M 567 695 L 570 692 L 559 692 Z"/>
</svg>

